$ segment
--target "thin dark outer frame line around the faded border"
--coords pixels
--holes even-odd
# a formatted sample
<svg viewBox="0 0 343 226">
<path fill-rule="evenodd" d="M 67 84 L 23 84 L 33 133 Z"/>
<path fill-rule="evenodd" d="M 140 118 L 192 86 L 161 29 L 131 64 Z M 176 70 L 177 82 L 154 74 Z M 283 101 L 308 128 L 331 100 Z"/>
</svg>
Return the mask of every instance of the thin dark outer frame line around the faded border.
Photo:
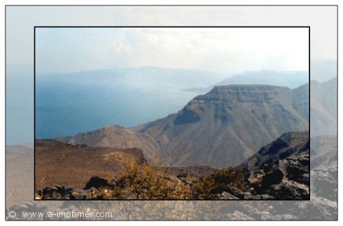
<svg viewBox="0 0 343 226">
<path fill-rule="evenodd" d="M 163 7 L 163 6 L 165 6 L 165 7 L 167 7 L 167 6 L 173 6 L 173 7 L 175 7 L 175 6 L 178 6 L 178 7 L 187 7 L 187 6 L 200 6 L 200 7 L 218 7 L 218 6 L 224 6 L 224 7 L 227 7 L 227 6 L 230 6 L 230 7 L 235 7 L 235 6 L 239 6 L 239 7 L 241 7 L 241 6 L 255 6 L 255 7 L 269 7 L 269 6 L 272 6 L 272 7 L 294 7 L 294 6 L 296 6 L 296 7 L 326 7 L 326 6 L 329 6 L 329 7 L 333 7 L 333 6 L 335 6 L 335 8 L 336 8 L 336 32 L 337 32 L 337 34 L 336 34 L 336 45 L 337 45 L 337 51 L 336 51 L 336 79 L 337 79 L 337 83 L 338 83 L 338 60 L 339 60 L 339 54 L 338 54 L 338 40 L 339 40 L 339 34 L 338 34 L 338 27 L 339 27 L 339 21 L 338 21 L 338 5 L 329 5 L 329 4 L 323 4 L 323 5 L 316 5 L 316 4 L 314 4 L 314 5 L 25 5 L 25 4 L 23 4 L 23 5 L 5 5 L 5 31 L 4 31 L 4 35 L 5 35 L 5 67 L 4 67 L 4 72 L 5 72 L 5 90 L 4 90 L 4 94 L 5 94 L 5 148 L 6 148 L 6 146 L 7 146 L 7 142 L 6 142 L 6 138 L 7 138 L 7 134 L 6 134 L 6 128 L 7 128 L 7 121 L 6 121 L 6 119 L 7 119 L 7 114 L 6 114 L 6 111 L 7 111 L 7 108 L 6 108 L 6 106 L 7 106 L 7 95 L 6 95 L 6 90 L 7 90 L 7 83 L 6 83 L 6 81 L 7 81 L 7 60 L 6 60 L 6 56 L 7 56 L 7 45 L 6 45 L 6 30 L 7 30 L 7 28 L 6 28 L 6 25 L 7 25 L 7 22 L 6 22 L 6 18 L 7 18 L 7 16 L 6 16 L 6 12 L 7 12 L 7 6 L 11 6 L 11 7 L 21 7 L 21 6 L 29 6 L 29 7 L 35 7 L 35 6 L 49 6 L 49 7 L 78 7 L 78 8 L 80 8 L 80 7 L 84 7 L 84 6 L 86 6 L 86 7 L 89 7 L 89 6 L 93 6 L 93 7 L 98 7 L 98 6 L 100 6 L 100 7 L 105 7 L 105 6 L 110 6 L 110 7 L 115 7 L 115 6 L 130 6 L 130 7 L 135 7 L 135 6 L 143 6 L 143 7 L 145 7 L 145 6 L 161 6 L 161 7 Z M 311 58 L 309 59 L 309 60 L 311 60 Z M 309 84 L 309 89 L 310 89 L 310 84 Z M 336 88 L 336 104 L 337 104 L 337 113 L 338 113 L 338 86 L 337 86 L 337 88 Z M 309 95 L 309 96 L 311 96 L 311 95 Z M 310 111 L 309 111 L 310 112 Z M 336 123 L 338 124 L 338 114 L 337 114 L 337 118 L 336 118 Z M 338 145 L 338 127 L 337 127 L 337 149 L 336 149 L 336 154 L 337 154 L 337 156 L 338 156 L 338 147 L 339 147 L 339 145 Z M 6 151 L 4 152 L 4 155 L 5 155 L 5 166 L 4 166 L 4 168 L 5 168 L 5 178 L 4 178 L 4 184 L 5 184 L 5 197 L 6 197 L 6 194 L 7 194 L 7 184 L 6 184 L 6 177 L 7 177 L 7 172 L 6 172 L 6 166 L 7 166 L 7 161 L 6 161 Z M 338 158 L 339 159 L 339 158 Z M 337 160 L 337 162 L 339 162 L 339 160 Z M 311 161 L 310 161 L 310 163 L 311 163 Z M 337 163 L 337 167 L 338 167 L 338 163 Z M 338 178 L 338 171 L 337 171 L 337 173 L 336 173 L 336 176 L 337 176 L 337 178 Z M 338 190 L 338 183 L 337 183 L 337 185 L 336 185 L 336 188 L 337 188 L 337 190 Z M 338 192 L 337 192 L 338 193 Z M 337 194 L 337 199 L 336 199 L 336 203 L 337 203 L 337 206 L 338 206 L 338 195 L 339 194 Z M 310 195 L 310 197 L 311 197 L 311 195 Z M 61 200 L 62 201 L 62 200 Z M 113 201 L 115 201 L 115 200 L 113 200 Z M 293 200 L 292 200 L 293 201 Z M 6 199 L 5 199 L 5 210 L 8 210 L 8 208 L 6 208 L 6 205 L 7 205 L 7 203 L 6 203 Z M 312 220 L 312 219 L 296 219 L 296 220 L 294 220 L 294 219 L 290 219 L 290 220 L 288 220 L 288 221 L 338 221 L 338 216 L 339 216 L 339 214 L 337 215 L 337 219 L 335 219 L 335 220 L 326 220 L 326 219 L 319 219 L 319 220 Z M 16 219 L 16 218 L 13 218 L 13 219 L 8 219 L 7 217 L 5 217 L 5 221 L 40 221 L 40 220 L 38 220 L 38 219 L 30 219 L 30 220 L 23 220 L 23 219 Z M 75 221 L 75 220 L 71 220 L 71 219 L 60 219 L 60 220 L 57 220 L 57 221 Z M 86 219 L 81 219 L 81 220 L 78 220 L 78 221 L 91 221 L 91 220 L 86 220 Z M 108 220 L 103 220 L 103 219 L 97 219 L 96 221 L 285 221 L 285 220 L 277 220 L 277 219 L 272 219 L 272 220 L 261 220 L 261 219 L 254 219 L 254 220 L 233 220 L 233 219 L 210 219 L 210 220 L 206 220 L 206 219 L 200 219 L 200 220 L 194 220 L 194 219 L 190 219 L 190 220 L 180 220 L 180 219 L 147 219 L 147 220 L 145 220 L 145 219 L 143 219 L 143 220 L 137 220 L 137 219 L 132 219 L 132 220 L 118 220 L 118 219 L 108 219 Z"/>
</svg>

